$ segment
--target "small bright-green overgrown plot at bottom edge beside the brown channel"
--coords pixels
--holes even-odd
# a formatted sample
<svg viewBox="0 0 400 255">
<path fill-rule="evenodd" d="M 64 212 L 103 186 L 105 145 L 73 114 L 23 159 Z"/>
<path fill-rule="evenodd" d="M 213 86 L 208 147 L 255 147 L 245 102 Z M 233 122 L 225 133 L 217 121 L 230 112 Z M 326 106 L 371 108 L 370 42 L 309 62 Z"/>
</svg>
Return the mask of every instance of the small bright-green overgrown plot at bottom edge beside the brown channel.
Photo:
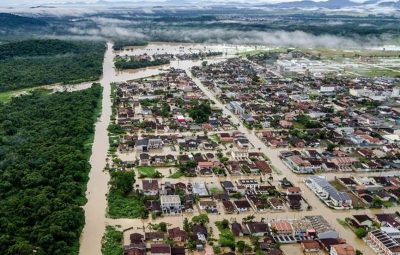
<svg viewBox="0 0 400 255">
<path fill-rule="evenodd" d="M 107 226 L 101 241 L 101 253 L 103 255 L 121 255 L 123 234 L 113 226 Z"/>
</svg>

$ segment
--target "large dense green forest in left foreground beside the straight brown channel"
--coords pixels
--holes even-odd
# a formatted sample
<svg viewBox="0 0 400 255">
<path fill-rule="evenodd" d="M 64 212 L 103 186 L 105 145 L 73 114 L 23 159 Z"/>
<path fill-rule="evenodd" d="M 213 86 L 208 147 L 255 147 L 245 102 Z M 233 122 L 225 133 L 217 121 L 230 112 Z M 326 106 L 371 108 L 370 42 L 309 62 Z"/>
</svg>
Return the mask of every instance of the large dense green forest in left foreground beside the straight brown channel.
<svg viewBox="0 0 400 255">
<path fill-rule="evenodd" d="M 0 254 L 77 254 L 102 88 L 0 105 Z"/>
</svg>

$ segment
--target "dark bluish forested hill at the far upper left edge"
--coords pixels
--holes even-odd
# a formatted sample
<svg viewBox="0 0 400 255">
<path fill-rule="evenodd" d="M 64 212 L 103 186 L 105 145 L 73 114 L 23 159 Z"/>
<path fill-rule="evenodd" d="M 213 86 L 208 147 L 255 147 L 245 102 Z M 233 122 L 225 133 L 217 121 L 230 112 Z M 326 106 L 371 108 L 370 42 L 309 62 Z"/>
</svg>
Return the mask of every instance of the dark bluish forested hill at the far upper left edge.
<svg viewBox="0 0 400 255">
<path fill-rule="evenodd" d="M 10 13 L 0 13 L 0 29 L 44 27 L 47 22 L 41 19 L 24 17 Z"/>
</svg>

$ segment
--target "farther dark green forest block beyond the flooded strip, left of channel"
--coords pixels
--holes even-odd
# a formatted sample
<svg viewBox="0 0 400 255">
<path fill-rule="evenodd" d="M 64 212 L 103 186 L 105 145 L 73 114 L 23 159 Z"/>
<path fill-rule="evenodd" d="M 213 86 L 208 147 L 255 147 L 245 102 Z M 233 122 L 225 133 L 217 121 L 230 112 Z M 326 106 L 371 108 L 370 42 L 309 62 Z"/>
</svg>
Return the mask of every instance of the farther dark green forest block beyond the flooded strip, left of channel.
<svg viewBox="0 0 400 255">
<path fill-rule="evenodd" d="M 0 45 L 0 91 L 98 80 L 102 42 L 27 40 Z"/>
</svg>

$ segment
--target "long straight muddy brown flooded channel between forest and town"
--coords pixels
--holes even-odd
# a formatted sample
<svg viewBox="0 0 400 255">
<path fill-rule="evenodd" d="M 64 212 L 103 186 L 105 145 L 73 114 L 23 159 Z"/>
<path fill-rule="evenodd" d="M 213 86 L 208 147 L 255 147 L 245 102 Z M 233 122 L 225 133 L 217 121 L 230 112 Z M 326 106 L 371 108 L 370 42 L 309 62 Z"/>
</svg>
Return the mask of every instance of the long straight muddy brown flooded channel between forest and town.
<svg viewBox="0 0 400 255">
<path fill-rule="evenodd" d="M 109 175 L 104 172 L 106 157 L 109 147 L 107 127 L 111 116 L 111 86 L 116 72 L 113 68 L 112 45 L 108 44 L 103 63 L 103 77 L 100 81 L 103 87 L 102 113 L 96 123 L 95 136 L 92 145 L 92 166 L 89 173 L 89 182 L 86 190 L 87 204 L 85 210 L 85 227 L 80 240 L 80 254 L 101 254 L 101 238 L 105 230 L 106 222 L 106 195 L 108 192 Z"/>
</svg>

